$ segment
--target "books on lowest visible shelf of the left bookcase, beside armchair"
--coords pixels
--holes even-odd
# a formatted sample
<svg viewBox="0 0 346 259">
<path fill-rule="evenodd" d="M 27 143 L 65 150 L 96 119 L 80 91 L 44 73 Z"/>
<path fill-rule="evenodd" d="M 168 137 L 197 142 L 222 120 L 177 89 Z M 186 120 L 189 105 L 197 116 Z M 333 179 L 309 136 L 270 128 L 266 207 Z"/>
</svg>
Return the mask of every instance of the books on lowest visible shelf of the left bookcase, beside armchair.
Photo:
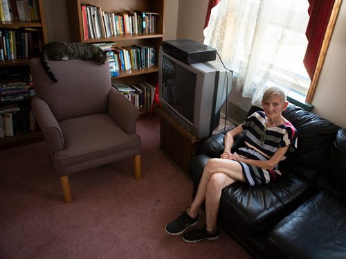
<svg viewBox="0 0 346 259">
<path fill-rule="evenodd" d="M 35 131 L 36 123 L 30 105 L 0 107 L 0 138 Z"/>
</svg>

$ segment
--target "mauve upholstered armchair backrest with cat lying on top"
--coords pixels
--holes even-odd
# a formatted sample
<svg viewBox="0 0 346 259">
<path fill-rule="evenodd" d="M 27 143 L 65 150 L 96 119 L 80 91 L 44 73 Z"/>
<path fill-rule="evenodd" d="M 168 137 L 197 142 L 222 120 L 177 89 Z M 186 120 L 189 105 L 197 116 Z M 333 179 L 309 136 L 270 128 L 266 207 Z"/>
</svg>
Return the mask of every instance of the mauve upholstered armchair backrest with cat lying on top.
<svg viewBox="0 0 346 259">
<path fill-rule="evenodd" d="M 107 112 L 111 76 L 108 61 L 50 60 L 53 82 L 39 58 L 30 60 L 35 94 L 48 103 L 57 121 Z"/>
</svg>

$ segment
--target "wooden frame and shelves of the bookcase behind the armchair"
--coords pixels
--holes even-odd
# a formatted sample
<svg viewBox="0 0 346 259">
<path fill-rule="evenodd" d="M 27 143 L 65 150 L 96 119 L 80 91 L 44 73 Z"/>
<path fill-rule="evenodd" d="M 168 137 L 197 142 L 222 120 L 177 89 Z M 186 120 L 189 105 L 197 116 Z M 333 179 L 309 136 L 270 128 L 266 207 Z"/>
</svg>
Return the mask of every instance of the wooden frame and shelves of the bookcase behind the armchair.
<svg viewBox="0 0 346 259">
<path fill-rule="evenodd" d="M 155 46 L 155 66 L 144 69 L 120 70 L 117 77 L 111 80 L 115 83 L 136 84 L 147 81 L 156 85 L 158 82 L 158 51 L 163 42 L 163 15 L 165 0 L 69 0 L 69 21 L 71 29 L 71 40 L 73 42 L 99 43 L 115 42 L 116 46 L 124 47 L 131 45 L 153 45 Z M 82 6 L 91 5 L 101 8 L 102 11 L 119 13 L 139 10 L 142 12 L 155 12 L 156 32 L 155 33 L 124 33 L 112 35 L 111 37 L 101 37 L 84 39 L 84 28 L 82 19 Z M 147 111 L 142 111 L 143 116 Z"/>
</svg>

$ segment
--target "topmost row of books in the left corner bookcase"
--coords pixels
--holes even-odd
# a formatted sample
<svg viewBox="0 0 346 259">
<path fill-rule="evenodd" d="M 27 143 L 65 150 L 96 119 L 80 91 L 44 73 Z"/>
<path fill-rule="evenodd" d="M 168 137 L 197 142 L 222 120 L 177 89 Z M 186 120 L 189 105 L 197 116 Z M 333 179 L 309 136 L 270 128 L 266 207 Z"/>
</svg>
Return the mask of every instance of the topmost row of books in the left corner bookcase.
<svg viewBox="0 0 346 259">
<path fill-rule="evenodd" d="M 0 21 L 39 20 L 37 0 L 0 0 Z"/>
</svg>

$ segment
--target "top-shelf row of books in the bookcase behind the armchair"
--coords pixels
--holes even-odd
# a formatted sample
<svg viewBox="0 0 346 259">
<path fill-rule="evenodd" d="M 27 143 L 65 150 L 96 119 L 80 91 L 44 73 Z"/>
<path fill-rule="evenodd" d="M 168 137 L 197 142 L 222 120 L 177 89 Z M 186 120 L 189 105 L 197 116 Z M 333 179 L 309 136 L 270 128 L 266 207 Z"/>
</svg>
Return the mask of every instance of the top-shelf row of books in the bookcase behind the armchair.
<svg viewBox="0 0 346 259">
<path fill-rule="evenodd" d="M 82 5 L 84 40 L 122 34 L 156 33 L 157 12 L 107 12 L 98 6 Z"/>
</svg>

